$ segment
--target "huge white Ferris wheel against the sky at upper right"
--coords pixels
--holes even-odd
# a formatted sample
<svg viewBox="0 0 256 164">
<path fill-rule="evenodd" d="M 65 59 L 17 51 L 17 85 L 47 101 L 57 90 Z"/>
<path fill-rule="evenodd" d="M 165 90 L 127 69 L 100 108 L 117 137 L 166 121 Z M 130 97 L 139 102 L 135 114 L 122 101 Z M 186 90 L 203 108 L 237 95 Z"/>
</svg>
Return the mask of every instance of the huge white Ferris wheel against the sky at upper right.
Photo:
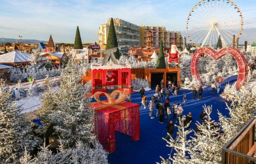
<svg viewBox="0 0 256 164">
<path fill-rule="evenodd" d="M 201 0 L 189 12 L 186 29 L 189 41 L 200 47 L 230 46 L 242 34 L 244 19 L 240 8 L 231 0 Z"/>
</svg>

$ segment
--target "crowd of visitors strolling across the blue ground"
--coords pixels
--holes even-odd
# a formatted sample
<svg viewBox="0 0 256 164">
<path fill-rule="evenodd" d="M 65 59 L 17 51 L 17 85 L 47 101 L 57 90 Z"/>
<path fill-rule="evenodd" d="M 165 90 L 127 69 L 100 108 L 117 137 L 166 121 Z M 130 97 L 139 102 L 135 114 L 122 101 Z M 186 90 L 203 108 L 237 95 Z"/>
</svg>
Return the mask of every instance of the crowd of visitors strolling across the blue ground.
<svg viewBox="0 0 256 164">
<path fill-rule="evenodd" d="M 219 94 L 220 88 L 221 88 L 221 83 L 222 83 L 222 78 L 218 77 L 215 82 L 212 82 L 212 90 L 211 93 L 215 93 L 215 88 L 217 88 L 217 93 Z M 168 81 L 167 82 L 167 88 L 164 88 L 164 81 L 161 81 L 161 87 L 157 85 L 155 87 L 155 93 L 152 95 L 151 100 L 148 104 L 148 109 L 149 109 L 149 116 L 150 119 L 154 119 L 156 117 L 159 117 L 159 123 L 163 124 L 164 123 L 164 118 L 167 119 L 167 126 L 166 130 L 169 133 L 166 136 L 166 139 L 170 136 L 173 136 L 174 133 L 174 123 L 179 123 L 180 120 L 183 120 L 184 126 L 188 125 L 187 129 L 190 129 L 190 124 L 193 121 L 192 119 L 192 113 L 188 112 L 187 114 L 184 114 L 184 110 L 181 105 L 186 105 L 187 102 L 187 95 L 183 95 L 183 102 L 182 104 L 174 102 L 172 105 L 170 105 L 170 94 L 172 93 L 173 95 L 178 95 L 180 94 L 180 85 L 177 83 L 175 85 L 174 82 Z M 203 87 L 200 85 L 199 87 L 194 87 L 192 94 L 193 94 L 193 99 L 196 99 L 198 92 L 198 99 L 201 100 L 203 97 Z M 140 89 L 140 95 L 142 98 L 142 107 L 146 109 L 147 105 L 147 97 L 145 95 L 145 90 L 142 87 Z M 204 125 L 204 121 L 207 118 L 206 113 L 203 111 L 200 114 L 200 120 L 202 121 L 202 124 Z M 218 122 L 214 123 L 214 126 L 218 126 Z M 198 128 L 197 128 L 198 131 Z"/>
</svg>

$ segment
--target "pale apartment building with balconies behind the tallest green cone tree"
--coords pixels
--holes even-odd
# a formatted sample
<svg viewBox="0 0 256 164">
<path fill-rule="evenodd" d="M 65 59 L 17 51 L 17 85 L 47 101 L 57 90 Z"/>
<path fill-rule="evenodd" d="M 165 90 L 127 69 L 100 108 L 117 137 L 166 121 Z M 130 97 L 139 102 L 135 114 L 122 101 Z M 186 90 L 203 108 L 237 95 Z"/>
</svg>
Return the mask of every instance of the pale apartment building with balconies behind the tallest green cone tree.
<svg viewBox="0 0 256 164">
<path fill-rule="evenodd" d="M 110 20 L 111 18 L 109 18 L 105 24 L 99 26 L 99 32 L 97 33 L 97 35 L 99 35 L 98 42 L 100 45 L 107 44 Z M 137 26 L 136 24 L 127 22 L 119 18 L 113 19 L 113 22 L 116 30 L 118 46 L 140 46 L 140 26 Z M 120 48 L 119 51 L 123 54 L 127 54 L 128 47 Z"/>
</svg>

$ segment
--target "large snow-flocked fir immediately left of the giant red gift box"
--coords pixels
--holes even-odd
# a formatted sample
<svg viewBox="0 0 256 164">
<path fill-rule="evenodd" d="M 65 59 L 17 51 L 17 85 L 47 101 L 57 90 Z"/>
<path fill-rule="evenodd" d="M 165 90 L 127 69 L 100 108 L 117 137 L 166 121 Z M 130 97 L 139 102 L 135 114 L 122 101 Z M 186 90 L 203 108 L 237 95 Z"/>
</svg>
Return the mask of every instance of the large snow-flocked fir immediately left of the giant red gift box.
<svg viewBox="0 0 256 164">
<path fill-rule="evenodd" d="M 63 70 L 59 88 L 45 92 L 38 112 L 42 124 L 54 124 L 55 134 L 69 146 L 74 145 L 78 138 L 86 143 L 95 138 L 91 133 L 93 110 L 90 109 L 90 99 L 84 98 L 86 88 L 80 83 L 80 75 L 79 66 L 70 59 Z"/>
</svg>

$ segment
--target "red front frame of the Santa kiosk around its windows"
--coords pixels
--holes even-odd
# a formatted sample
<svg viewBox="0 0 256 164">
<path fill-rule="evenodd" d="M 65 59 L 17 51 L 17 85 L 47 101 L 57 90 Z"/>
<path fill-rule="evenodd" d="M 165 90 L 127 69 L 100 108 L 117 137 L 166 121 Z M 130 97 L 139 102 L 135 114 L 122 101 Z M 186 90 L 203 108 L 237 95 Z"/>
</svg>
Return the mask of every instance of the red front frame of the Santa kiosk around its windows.
<svg viewBox="0 0 256 164">
<path fill-rule="evenodd" d="M 131 69 L 130 68 L 123 68 L 123 69 L 109 69 L 109 70 L 103 70 L 103 69 L 94 69 L 92 70 L 91 73 L 91 85 L 92 85 L 92 93 L 94 94 L 97 91 L 102 91 L 106 92 L 106 71 L 118 71 L 118 90 L 123 91 L 124 89 L 122 88 L 122 73 L 127 72 L 128 73 L 128 78 L 126 79 L 128 82 L 128 88 L 129 93 L 131 93 Z M 101 80 L 102 80 L 102 89 L 95 89 L 95 73 L 101 73 Z"/>
</svg>

